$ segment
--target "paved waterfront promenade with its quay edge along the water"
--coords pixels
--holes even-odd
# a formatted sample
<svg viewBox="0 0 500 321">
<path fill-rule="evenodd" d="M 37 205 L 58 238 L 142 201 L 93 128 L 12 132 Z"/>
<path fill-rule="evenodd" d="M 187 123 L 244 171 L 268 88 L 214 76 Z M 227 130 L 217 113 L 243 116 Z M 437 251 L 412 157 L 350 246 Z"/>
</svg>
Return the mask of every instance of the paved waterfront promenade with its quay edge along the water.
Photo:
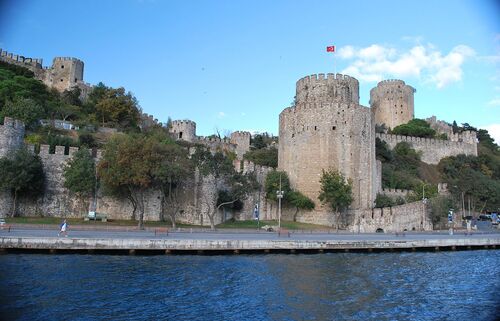
<svg viewBox="0 0 500 321">
<path fill-rule="evenodd" d="M 166 229 L 77 229 L 68 237 L 58 237 L 57 228 L 16 227 L 0 230 L 0 249 L 41 252 L 119 252 L 128 254 L 160 253 L 272 253 L 394 250 L 466 250 L 500 248 L 500 233 L 476 232 L 454 235 L 442 232 L 334 233 L 276 232 L 252 230 L 181 230 Z"/>
</svg>

